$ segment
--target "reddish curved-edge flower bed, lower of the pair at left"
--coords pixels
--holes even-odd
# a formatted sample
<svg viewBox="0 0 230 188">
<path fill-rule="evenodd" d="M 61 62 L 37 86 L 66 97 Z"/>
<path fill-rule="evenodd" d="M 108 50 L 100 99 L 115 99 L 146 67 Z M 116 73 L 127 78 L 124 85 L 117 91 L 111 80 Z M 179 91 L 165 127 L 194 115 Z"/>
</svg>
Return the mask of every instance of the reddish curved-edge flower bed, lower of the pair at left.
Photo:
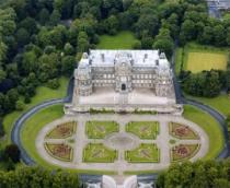
<svg viewBox="0 0 230 188">
<path fill-rule="evenodd" d="M 71 162 L 72 148 L 64 143 L 45 143 L 46 151 L 55 158 Z"/>
</svg>

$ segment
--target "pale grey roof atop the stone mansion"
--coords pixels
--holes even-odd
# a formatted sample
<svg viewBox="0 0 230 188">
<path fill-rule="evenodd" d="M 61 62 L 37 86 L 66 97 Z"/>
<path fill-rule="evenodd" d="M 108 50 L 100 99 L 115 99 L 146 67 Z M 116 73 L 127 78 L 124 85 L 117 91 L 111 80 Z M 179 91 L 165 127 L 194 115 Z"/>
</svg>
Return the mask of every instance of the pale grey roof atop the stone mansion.
<svg viewBox="0 0 230 188">
<path fill-rule="evenodd" d="M 161 57 L 161 58 L 160 58 Z M 129 60 L 133 67 L 160 67 L 170 68 L 164 54 L 159 50 L 90 50 L 83 54 L 79 67 L 114 67 L 116 60 Z"/>
</svg>

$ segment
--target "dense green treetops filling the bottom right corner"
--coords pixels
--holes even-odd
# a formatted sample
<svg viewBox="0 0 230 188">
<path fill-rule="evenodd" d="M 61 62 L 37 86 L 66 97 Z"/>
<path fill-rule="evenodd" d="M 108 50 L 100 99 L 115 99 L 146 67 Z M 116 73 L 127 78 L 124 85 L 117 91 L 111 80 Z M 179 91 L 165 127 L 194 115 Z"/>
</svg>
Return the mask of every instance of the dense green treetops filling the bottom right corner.
<svg viewBox="0 0 230 188">
<path fill-rule="evenodd" d="M 229 188 L 230 161 L 206 161 L 172 165 L 158 178 L 158 188 Z"/>
</svg>

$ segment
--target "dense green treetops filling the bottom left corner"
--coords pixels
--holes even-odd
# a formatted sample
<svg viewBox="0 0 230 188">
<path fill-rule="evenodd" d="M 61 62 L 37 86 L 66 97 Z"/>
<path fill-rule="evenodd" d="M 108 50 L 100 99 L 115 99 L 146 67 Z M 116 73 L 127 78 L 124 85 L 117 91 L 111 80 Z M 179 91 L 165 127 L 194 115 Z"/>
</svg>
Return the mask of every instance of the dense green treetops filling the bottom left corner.
<svg viewBox="0 0 230 188">
<path fill-rule="evenodd" d="M 79 188 L 76 174 L 48 171 L 41 167 L 21 167 L 8 173 L 0 172 L 0 187 L 4 188 Z"/>
</svg>

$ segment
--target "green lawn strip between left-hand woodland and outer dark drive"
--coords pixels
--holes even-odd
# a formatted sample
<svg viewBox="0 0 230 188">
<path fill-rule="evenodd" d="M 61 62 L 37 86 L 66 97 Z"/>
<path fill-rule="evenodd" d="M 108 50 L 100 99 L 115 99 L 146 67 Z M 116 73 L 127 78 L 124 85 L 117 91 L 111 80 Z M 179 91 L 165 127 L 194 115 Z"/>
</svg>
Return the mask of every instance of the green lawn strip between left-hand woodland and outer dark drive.
<svg viewBox="0 0 230 188">
<path fill-rule="evenodd" d="M 3 127 L 4 127 L 5 134 L 7 134 L 7 140 L 4 142 L 2 142 L 2 145 L 9 144 L 11 142 L 10 134 L 11 134 L 13 124 L 16 121 L 16 119 L 23 113 L 25 113 L 33 106 L 35 106 L 44 101 L 51 99 L 51 98 L 61 98 L 61 97 L 66 96 L 69 79 L 61 78 L 59 80 L 59 82 L 60 82 L 60 86 L 58 87 L 58 90 L 51 90 L 46 86 L 37 87 L 36 95 L 32 98 L 31 103 L 25 106 L 24 110 L 22 110 L 22 111 L 15 110 L 15 111 L 4 116 Z"/>
</svg>

